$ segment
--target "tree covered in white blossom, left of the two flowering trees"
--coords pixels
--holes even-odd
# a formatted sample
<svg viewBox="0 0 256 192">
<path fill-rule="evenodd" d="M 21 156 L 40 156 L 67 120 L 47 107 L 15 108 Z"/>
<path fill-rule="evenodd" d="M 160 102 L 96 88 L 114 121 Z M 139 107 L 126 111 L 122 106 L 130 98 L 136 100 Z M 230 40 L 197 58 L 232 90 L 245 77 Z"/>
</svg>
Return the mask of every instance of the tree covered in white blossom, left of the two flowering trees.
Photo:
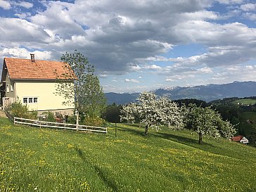
<svg viewBox="0 0 256 192">
<path fill-rule="evenodd" d="M 151 92 L 144 91 L 136 99 L 137 103 L 123 105 L 121 120 L 145 124 L 145 135 L 148 128 L 159 129 L 162 125 L 169 128 L 183 127 L 183 115 L 177 103 L 167 97 L 158 98 Z"/>
</svg>

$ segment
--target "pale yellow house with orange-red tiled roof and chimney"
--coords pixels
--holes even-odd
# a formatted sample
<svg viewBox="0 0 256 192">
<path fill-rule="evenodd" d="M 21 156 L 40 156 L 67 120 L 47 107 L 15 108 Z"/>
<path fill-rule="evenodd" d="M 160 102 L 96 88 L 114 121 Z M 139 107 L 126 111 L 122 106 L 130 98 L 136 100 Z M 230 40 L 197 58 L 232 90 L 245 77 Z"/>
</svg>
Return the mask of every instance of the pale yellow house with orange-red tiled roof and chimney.
<svg viewBox="0 0 256 192">
<path fill-rule="evenodd" d="M 39 114 L 50 110 L 65 115 L 73 113 L 74 105 L 63 105 L 63 96 L 56 95 L 56 77 L 70 73 L 74 78 L 68 79 L 71 84 L 76 79 L 71 68 L 65 68 L 63 62 L 50 60 L 4 58 L 1 75 L 1 105 L 20 101 L 37 110 Z M 74 98 L 75 99 L 75 98 Z"/>
</svg>

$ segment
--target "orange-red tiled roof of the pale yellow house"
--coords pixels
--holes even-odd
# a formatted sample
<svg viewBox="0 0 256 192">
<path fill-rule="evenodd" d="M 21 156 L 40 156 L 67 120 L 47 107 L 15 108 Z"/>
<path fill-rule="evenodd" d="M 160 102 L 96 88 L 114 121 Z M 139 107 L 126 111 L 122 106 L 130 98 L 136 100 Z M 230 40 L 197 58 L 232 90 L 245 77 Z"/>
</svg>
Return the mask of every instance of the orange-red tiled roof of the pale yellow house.
<svg viewBox="0 0 256 192">
<path fill-rule="evenodd" d="M 76 79 L 72 69 L 64 68 L 64 63 L 51 60 L 4 58 L 10 79 L 56 79 L 57 75 L 68 72 Z M 56 73 L 55 73 L 56 72 Z M 63 78 L 64 79 L 64 78 Z"/>
</svg>

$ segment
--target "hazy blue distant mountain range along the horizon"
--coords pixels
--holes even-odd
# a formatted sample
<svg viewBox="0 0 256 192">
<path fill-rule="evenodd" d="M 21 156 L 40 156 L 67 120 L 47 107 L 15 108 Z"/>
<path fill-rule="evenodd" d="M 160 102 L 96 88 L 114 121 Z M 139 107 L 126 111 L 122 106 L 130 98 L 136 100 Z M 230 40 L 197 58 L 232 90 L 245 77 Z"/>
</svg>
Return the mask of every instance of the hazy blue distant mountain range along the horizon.
<svg viewBox="0 0 256 192">
<path fill-rule="evenodd" d="M 167 95 L 172 100 L 181 98 L 196 98 L 206 102 L 222 98 L 256 96 L 256 82 L 233 82 L 229 84 L 208 84 L 194 87 L 171 87 L 155 89 L 158 96 Z M 116 94 L 106 93 L 108 104 L 125 104 L 136 100 L 140 93 Z"/>
</svg>

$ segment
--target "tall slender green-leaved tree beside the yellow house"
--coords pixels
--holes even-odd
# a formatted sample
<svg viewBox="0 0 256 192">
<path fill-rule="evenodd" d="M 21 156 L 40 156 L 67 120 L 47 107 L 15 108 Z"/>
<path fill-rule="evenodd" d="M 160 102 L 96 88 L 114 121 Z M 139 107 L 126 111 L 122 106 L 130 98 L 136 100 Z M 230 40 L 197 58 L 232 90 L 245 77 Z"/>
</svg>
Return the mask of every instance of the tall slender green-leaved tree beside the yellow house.
<svg viewBox="0 0 256 192">
<path fill-rule="evenodd" d="M 99 79 L 94 73 L 94 66 L 76 50 L 74 53 L 66 52 L 60 60 L 64 63 L 63 68 L 72 70 L 65 70 L 67 72 L 60 76 L 56 75 L 56 94 L 65 98 L 64 105 L 75 105 L 77 124 L 79 113 L 89 117 L 100 115 L 106 100 Z"/>
</svg>

